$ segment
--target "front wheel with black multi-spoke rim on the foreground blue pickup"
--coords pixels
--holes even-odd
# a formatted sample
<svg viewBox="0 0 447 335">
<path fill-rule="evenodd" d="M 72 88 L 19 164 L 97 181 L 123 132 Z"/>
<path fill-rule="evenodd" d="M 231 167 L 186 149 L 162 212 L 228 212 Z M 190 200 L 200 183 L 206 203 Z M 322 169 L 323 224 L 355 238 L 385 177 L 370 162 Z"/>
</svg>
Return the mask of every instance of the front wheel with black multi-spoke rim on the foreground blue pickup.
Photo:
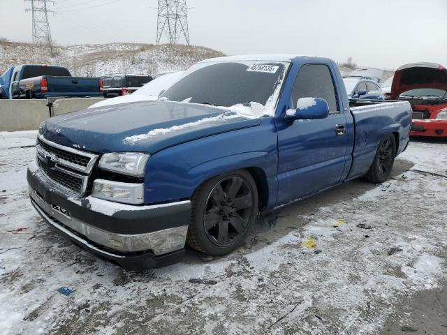
<svg viewBox="0 0 447 335">
<path fill-rule="evenodd" d="M 186 242 L 207 255 L 226 255 L 247 237 L 258 215 L 258 191 L 247 170 L 213 177 L 191 198 Z"/>
</svg>

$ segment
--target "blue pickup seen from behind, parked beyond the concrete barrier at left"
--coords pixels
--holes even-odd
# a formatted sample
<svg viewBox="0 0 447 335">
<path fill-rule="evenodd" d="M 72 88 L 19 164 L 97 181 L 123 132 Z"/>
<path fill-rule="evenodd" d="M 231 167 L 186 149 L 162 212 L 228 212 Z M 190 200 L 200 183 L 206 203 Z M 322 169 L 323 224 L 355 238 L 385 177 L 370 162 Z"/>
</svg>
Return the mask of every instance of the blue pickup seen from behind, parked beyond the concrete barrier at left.
<svg viewBox="0 0 447 335">
<path fill-rule="evenodd" d="M 103 96 L 99 78 L 73 77 L 63 66 L 12 66 L 0 76 L 0 98 L 40 99 L 47 96 Z"/>
</svg>

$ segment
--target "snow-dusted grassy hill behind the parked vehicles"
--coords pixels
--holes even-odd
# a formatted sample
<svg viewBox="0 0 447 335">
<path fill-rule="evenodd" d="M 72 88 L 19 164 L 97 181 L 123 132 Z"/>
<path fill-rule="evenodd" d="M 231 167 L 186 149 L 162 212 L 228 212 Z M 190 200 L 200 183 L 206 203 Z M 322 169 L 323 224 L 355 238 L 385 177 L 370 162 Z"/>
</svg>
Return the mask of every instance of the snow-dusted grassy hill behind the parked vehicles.
<svg viewBox="0 0 447 335">
<path fill-rule="evenodd" d="M 186 70 L 203 59 L 224 56 L 222 52 L 194 45 L 139 43 L 88 44 L 48 47 L 0 40 L 0 75 L 17 64 L 66 66 L 73 75 L 149 73 Z"/>
</svg>

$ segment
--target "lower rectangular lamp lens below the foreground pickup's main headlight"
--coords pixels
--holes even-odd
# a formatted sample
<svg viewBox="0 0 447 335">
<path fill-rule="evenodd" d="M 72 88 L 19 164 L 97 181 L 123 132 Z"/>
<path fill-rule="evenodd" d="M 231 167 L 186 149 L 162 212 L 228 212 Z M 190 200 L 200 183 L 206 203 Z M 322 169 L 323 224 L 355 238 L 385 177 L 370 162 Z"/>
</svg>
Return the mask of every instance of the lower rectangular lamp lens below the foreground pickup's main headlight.
<svg viewBox="0 0 447 335">
<path fill-rule="evenodd" d="M 105 179 L 93 182 L 91 195 L 95 198 L 124 202 L 126 204 L 143 204 L 144 184 L 121 183 Z"/>
</svg>

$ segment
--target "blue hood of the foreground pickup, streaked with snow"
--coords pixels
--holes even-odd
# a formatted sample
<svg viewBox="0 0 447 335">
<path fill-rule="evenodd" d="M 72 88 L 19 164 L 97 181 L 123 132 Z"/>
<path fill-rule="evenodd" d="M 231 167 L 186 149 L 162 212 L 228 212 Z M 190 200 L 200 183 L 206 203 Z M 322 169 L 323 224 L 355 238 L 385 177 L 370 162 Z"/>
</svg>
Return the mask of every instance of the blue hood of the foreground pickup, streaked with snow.
<svg viewBox="0 0 447 335">
<path fill-rule="evenodd" d="M 226 107 L 170 101 L 144 101 L 80 110 L 47 119 L 39 133 L 47 140 L 76 149 L 106 153 L 154 153 L 166 147 L 258 126 Z"/>
</svg>

